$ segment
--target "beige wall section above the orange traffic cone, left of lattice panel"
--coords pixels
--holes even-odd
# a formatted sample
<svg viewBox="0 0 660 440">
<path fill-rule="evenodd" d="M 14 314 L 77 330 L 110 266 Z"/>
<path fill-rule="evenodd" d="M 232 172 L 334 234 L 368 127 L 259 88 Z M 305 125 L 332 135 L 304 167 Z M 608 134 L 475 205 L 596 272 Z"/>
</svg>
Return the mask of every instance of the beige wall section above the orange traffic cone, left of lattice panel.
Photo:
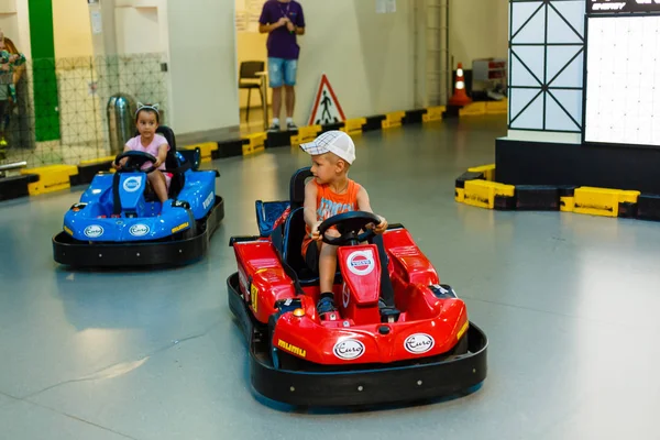
<svg viewBox="0 0 660 440">
<path fill-rule="evenodd" d="M 450 6 L 449 48 L 453 68 L 472 68 L 475 58 L 508 53 L 508 0 L 454 0 Z"/>
</svg>

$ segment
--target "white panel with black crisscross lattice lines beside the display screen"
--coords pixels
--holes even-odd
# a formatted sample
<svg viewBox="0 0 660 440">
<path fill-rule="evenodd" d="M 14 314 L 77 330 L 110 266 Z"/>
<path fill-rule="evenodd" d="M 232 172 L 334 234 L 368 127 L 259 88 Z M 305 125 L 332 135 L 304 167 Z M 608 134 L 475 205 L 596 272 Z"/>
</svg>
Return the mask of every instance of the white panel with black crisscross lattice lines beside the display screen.
<svg viewBox="0 0 660 440">
<path fill-rule="evenodd" d="M 509 129 L 580 133 L 584 0 L 509 6 Z"/>
</svg>

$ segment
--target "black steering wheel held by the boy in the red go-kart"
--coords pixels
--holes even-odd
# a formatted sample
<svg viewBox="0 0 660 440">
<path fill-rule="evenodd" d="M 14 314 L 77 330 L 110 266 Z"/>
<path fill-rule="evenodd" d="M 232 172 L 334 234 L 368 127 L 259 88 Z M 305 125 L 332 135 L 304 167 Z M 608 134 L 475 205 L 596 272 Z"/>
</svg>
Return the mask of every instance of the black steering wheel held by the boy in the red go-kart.
<svg viewBox="0 0 660 440">
<path fill-rule="evenodd" d="M 359 244 L 375 237 L 373 229 L 367 229 L 369 224 L 378 224 L 378 216 L 365 211 L 349 211 L 330 217 L 319 226 L 319 234 L 324 243 L 336 246 Z M 328 238 L 326 231 L 330 228 L 337 228 L 340 237 Z M 360 233 L 361 230 L 364 232 Z"/>
</svg>

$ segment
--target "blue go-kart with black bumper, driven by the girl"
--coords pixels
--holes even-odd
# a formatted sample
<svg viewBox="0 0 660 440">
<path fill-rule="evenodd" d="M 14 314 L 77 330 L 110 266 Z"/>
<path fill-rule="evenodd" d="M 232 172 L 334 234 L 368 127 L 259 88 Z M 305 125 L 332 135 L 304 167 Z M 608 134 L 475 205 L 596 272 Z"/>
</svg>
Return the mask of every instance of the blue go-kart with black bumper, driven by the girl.
<svg viewBox="0 0 660 440">
<path fill-rule="evenodd" d="M 161 125 L 170 145 L 165 173 L 172 174 L 169 199 L 161 204 L 150 190 L 151 154 L 130 151 L 117 173 L 98 173 L 80 201 L 64 216 L 63 231 L 53 238 L 57 263 L 76 267 L 180 265 L 206 254 L 224 217 L 216 195 L 217 170 L 200 170 L 199 150 L 177 152 L 174 133 Z"/>
</svg>

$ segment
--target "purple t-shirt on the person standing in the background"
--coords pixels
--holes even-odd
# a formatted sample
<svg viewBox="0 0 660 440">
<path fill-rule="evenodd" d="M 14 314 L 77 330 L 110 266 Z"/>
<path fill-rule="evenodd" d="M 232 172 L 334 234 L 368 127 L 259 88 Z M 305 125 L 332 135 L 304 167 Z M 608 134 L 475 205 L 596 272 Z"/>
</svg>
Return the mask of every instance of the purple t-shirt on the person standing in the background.
<svg viewBox="0 0 660 440">
<path fill-rule="evenodd" d="M 287 2 L 266 1 L 258 22 L 261 24 L 274 24 L 283 16 L 288 16 L 296 26 L 305 28 L 302 7 L 295 0 Z M 273 58 L 298 59 L 300 54 L 296 34 L 290 33 L 286 26 L 278 28 L 268 34 L 266 47 L 268 48 L 268 56 Z"/>
</svg>

